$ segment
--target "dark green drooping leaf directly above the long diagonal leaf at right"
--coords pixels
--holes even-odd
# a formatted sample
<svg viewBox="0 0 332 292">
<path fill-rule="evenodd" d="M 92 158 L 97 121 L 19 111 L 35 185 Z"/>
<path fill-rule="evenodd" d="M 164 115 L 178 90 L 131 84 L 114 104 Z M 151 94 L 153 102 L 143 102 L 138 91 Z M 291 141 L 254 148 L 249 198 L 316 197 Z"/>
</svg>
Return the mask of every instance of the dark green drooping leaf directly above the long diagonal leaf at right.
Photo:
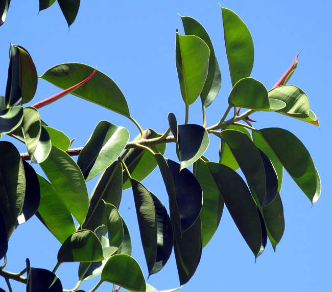
<svg viewBox="0 0 332 292">
<path fill-rule="evenodd" d="M 223 130 L 221 137 L 243 171 L 257 205 L 262 207 L 266 194 L 266 177 L 258 149 L 246 134 L 238 130 Z"/>
</svg>

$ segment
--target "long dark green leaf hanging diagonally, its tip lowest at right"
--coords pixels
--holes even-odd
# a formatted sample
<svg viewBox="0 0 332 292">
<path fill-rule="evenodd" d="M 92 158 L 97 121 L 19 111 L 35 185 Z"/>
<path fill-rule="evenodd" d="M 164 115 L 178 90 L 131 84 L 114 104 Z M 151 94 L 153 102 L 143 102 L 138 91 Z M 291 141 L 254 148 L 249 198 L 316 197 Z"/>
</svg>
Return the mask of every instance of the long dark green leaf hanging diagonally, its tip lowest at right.
<svg viewBox="0 0 332 292">
<path fill-rule="evenodd" d="M 255 257 L 263 252 L 262 227 L 257 206 L 241 176 L 231 168 L 214 162 L 207 166 L 225 205 Z"/>
</svg>

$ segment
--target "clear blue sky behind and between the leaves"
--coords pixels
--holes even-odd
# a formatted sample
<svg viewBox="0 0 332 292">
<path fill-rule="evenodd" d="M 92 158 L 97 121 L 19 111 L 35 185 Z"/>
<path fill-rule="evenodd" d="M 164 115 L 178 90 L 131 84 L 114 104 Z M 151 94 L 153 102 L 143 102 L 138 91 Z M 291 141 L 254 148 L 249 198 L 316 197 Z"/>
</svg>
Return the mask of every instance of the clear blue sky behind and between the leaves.
<svg viewBox="0 0 332 292">
<path fill-rule="evenodd" d="M 223 1 L 222 6 L 238 13 L 249 27 L 255 46 L 252 77 L 272 87 L 301 52 L 299 65 L 290 84 L 301 87 L 309 96 L 320 129 L 278 114 L 255 114 L 256 128 L 277 126 L 293 131 L 311 152 L 322 179 L 322 194 L 313 208 L 286 174 L 281 190 L 286 230 L 276 253 L 271 245 L 257 259 L 235 227 L 225 209 L 220 227 L 203 250 L 195 276 L 182 291 L 330 291 L 331 283 L 331 48 L 332 2 L 309 1 Z M 124 92 L 133 117 L 143 126 L 163 132 L 167 115 L 173 111 L 184 119 L 175 68 L 175 29 L 183 32 L 180 17 L 198 19 L 208 31 L 221 66 L 222 89 L 207 110 L 208 125 L 215 123 L 227 107 L 231 89 L 223 43 L 221 10 L 217 0 L 182 1 L 82 1 L 75 23 L 68 28 L 58 4 L 37 15 L 38 1 L 12 1 L 7 22 L 0 28 L 1 94 L 5 93 L 8 68 L 8 42 L 25 47 L 32 55 L 38 75 L 53 65 L 82 62 L 109 75 Z M 35 101 L 51 96 L 58 88 L 39 80 Z M 201 123 L 200 102 L 191 108 L 190 121 Z M 136 135 L 129 120 L 74 96 L 40 110 L 51 126 L 76 138 L 82 146 L 100 120 L 123 125 Z M 16 142 L 15 142 L 16 143 Z M 17 143 L 16 143 L 17 145 Z M 20 145 L 19 145 L 20 146 Z M 22 147 L 21 151 L 25 151 Z M 174 145 L 167 156 L 175 158 Z M 218 141 L 212 140 L 207 152 L 218 159 Z M 94 179 L 89 183 L 91 191 Z M 167 194 L 156 170 L 144 184 L 164 202 Z M 134 242 L 133 256 L 147 268 L 139 240 L 131 191 L 123 194 L 120 212 L 128 223 Z M 26 257 L 36 267 L 52 269 L 56 264 L 59 242 L 33 218 L 20 226 L 10 239 L 8 269 L 18 272 Z M 58 276 L 70 289 L 77 282 L 77 264 L 63 264 Z M 88 281 L 90 282 L 90 281 Z M 84 284 L 89 290 L 96 282 Z M 159 289 L 178 285 L 175 259 L 149 283 Z M 1 279 L 0 287 L 6 288 Z M 13 282 L 15 292 L 25 290 Z M 110 291 L 110 284 L 101 290 Z"/>
</svg>

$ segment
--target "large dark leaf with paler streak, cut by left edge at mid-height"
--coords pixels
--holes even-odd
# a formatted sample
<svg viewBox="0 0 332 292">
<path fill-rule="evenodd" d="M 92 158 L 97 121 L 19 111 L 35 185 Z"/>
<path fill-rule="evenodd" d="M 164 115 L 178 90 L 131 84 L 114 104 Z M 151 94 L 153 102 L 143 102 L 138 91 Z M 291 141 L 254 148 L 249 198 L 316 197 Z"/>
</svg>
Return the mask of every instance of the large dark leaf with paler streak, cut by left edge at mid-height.
<svg viewBox="0 0 332 292">
<path fill-rule="evenodd" d="M 0 153 L 6 153 L 0 159 L 0 211 L 4 216 L 9 238 L 22 211 L 26 177 L 19 152 L 12 143 L 0 142 Z"/>
</svg>

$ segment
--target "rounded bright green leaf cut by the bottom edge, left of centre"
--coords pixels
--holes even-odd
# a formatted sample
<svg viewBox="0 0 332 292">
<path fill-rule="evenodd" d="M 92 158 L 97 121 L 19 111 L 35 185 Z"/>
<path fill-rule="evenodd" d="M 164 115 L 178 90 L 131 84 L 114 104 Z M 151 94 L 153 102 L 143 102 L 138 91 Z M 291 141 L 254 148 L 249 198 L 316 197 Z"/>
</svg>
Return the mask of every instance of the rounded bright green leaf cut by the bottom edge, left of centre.
<svg viewBox="0 0 332 292">
<path fill-rule="evenodd" d="M 111 282 L 130 291 L 145 292 L 146 284 L 139 264 L 128 255 L 114 255 L 106 262 L 101 281 Z"/>
</svg>

